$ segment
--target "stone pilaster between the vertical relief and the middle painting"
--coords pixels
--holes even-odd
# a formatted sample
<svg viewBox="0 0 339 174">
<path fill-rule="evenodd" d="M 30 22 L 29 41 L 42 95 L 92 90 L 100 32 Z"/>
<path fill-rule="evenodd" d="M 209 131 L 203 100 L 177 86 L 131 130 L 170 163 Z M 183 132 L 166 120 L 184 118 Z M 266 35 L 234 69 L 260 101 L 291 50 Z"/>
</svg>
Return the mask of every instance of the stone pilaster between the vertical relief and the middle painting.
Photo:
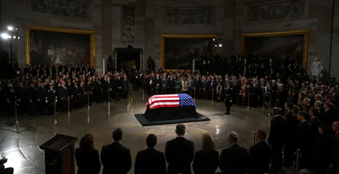
<svg viewBox="0 0 339 174">
<path fill-rule="evenodd" d="M 154 59 L 155 0 L 146 0 L 144 69 L 149 56 Z M 159 69 L 159 67 L 157 67 Z M 163 67 L 164 68 L 164 67 Z"/>
</svg>

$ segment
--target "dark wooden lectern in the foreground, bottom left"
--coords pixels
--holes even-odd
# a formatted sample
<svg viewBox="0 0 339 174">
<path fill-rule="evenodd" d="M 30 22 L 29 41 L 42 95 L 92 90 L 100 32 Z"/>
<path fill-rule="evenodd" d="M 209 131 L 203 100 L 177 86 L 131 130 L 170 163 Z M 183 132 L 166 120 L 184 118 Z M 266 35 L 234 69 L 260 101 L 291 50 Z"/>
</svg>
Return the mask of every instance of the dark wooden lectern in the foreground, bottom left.
<svg viewBox="0 0 339 174">
<path fill-rule="evenodd" d="M 76 137 L 57 134 L 40 146 L 45 150 L 46 174 L 74 174 Z"/>
</svg>

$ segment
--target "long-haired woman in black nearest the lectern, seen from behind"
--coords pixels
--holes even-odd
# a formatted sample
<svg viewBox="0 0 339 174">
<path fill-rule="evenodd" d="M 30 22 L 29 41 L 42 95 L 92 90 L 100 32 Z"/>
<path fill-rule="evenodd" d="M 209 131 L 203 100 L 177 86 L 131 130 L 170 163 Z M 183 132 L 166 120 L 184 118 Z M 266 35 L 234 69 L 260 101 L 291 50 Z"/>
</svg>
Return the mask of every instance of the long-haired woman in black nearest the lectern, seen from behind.
<svg viewBox="0 0 339 174">
<path fill-rule="evenodd" d="M 75 160 L 78 166 L 77 174 L 99 174 L 101 163 L 99 152 L 94 149 L 93 135 L 85 134 L 75 149 Z"/>
</svg>

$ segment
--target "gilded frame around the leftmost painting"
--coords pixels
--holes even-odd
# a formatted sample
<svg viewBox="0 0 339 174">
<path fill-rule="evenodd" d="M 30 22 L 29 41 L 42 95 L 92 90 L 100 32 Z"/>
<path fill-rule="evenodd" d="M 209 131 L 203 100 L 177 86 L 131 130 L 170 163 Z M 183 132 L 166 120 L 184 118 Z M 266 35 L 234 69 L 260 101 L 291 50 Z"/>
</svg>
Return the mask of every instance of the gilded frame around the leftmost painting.
<svg viewBox="0 0 339 174">
<path fill-rule="evenodd" d="M 65 28 L 53 28 L 45 26 L 25 25 L 25 60 L 30 65 L 30 30 L 54 31 L 62 33 L 89 34 L 90 35 L 90 64 L 95 67 L 95 32 L 90 30 L 76 30 Z"/>
</svg>

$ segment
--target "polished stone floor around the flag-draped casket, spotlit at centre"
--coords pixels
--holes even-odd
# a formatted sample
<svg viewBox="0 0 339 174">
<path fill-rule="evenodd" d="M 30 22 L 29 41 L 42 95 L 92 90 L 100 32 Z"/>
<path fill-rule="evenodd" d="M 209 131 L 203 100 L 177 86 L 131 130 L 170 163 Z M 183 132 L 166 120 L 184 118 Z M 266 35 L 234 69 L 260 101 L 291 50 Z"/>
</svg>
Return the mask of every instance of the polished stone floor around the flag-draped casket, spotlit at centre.
<svg viewBox="0 0 339 174">
<path fill-rule="evenodd" d="M 144 113 L 148 95 L 136 91 L 133 101 L 122 99 L 110 104 L 94 103 L 90 109 L 82 108 L 72 111 L 70 115 L 57 115 L 57 123 L 52 116 L 21 116 L 19 124 L 14 124 L 13 117 L 0 117 L 0 157 L 8 158 L 5 167 L 13 167 L 14 174 L 45 174 L 44 152 L 38 147 L 53 135 L 59 133 L 75 136 L 79 139 L 84 133 L 94 136 L 94 146 L 99 153 L 104 144 L 111 143 L 112 132 L 116 128 L 124 131 L 123 145 L 131 149 L 132 160 L 139 150 L 146 148 L 146 137 L 155 134 L 158 137 L 156 149 L 165 151 L 166 142 L 175 138 L 175 125 L 143 127 L 134 117 L 135 113 Z M 213 136 L 218 151 L 229 147 L 227 133 L 236 131 L 239 144 L 245 148 L 252 145 L 252 132 L 263 129 L 269 133 L 270 119 L 263 116 L 263 109 L 241 109 L 232 107 L 231 115 L 225 115 L 224 103 L 209 100 L 196 100 L 196 111 L 210 118 L 210 121 L 184 123 L 185 137 L 194 142 L 195 150 L 201 148 L 201 135 Z M 51 132 L 51 133 L 49 133 Z M 79 146 L 79 142 L 76 143 Z M 133 165 L 134 166 L 134 165 Z M 77 167 L 76 167 L 77 169 Z M 219 169 L 218 169 L 219 170 Z M 101 170 L 102 171 L 102 170 Z M 285 173 L 294 173 L 284 169 Z M 134 173 L 132 167 L 129 174 Z"/>
</svg>

